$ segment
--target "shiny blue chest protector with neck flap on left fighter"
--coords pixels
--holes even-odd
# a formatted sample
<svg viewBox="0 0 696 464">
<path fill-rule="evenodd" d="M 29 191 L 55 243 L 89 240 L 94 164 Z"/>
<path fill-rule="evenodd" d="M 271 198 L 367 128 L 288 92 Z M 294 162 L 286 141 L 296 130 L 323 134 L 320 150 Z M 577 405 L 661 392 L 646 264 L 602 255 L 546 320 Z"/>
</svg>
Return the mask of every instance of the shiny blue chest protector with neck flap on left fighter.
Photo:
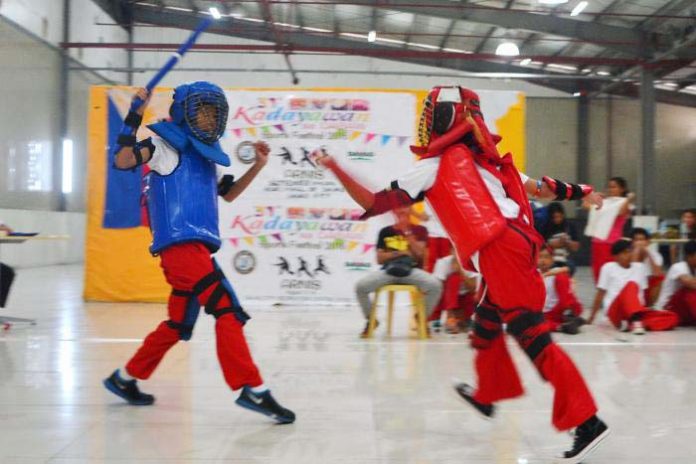
<svg viewBox="0 0 696 464">
<path fill-rule="evenodd" d="M 176 124 L 160 122 L 148 127 L 179 152 L 174 172 L 148 176 L 150 253 L 191 241 L 205 243 L 214 253 L 221 245 L 215 163 L 229 166 L 229 158 L 218 143 L 203 144 Z"/>
</svg>

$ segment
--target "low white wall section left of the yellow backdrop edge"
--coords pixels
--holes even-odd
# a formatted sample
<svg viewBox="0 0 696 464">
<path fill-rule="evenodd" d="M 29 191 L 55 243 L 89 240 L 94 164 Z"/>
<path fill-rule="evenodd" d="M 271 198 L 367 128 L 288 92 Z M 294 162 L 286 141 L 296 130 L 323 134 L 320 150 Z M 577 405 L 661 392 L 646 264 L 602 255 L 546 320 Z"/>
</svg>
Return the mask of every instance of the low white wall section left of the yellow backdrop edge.
<svg viewBox="0 0 696 464">
<path fill-rule="evenodd" d="M 0 209 L 0 220 L 17 232 L 70 236 L 67 240 L 27 240 L 20 244 L 0 244 L 0 260 L 10 266 L 50 266 L 84 261 L 84 213 Z"/>
</svg>

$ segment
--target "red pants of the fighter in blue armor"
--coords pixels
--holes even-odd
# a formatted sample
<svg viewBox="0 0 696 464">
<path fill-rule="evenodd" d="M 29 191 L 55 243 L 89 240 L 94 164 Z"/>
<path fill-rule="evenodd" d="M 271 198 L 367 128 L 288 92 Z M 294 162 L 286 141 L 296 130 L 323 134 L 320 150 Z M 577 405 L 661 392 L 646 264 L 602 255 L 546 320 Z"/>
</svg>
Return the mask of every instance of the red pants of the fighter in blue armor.
<svg viewBox="0 0 696 464">
<path fill-rule="evenodd" d="M 138 379 L 147 379 L 157 368 L 169 348 L 180 340 L 179 330 L 172 325 L 181 324 L 186 317 L 187 309 L 191 311 L 190 296 L 180 296 L 183 292 L 191 292 L 203 277 L 211 274 L 215 267 L 210 258 L 210 251 L 199 242 L 188 242 L 171 246 L 160 255 L 160 265 L 164 269 L 167 282 L 175 291 L 169 296 L 169 321 L 163 321 L 143 341 L 143 345 L 126 364 L 128 374 Z M 216 285 L 211 284 L 198 294 L 197 304 L 205 306 L 214 294 Z M 179 294 L 177 294 L 179 293 Z M 195 297 L 194 297 L 195 298 Z M 215 312 L 224 308 L 232 308 L 236 304 L 228 293 L 220 298 Z M 196 303 L 193 303 L 196 306 Z M 197 310 L 198 308 L 196 308 Z M 195 322 L 195 320 L 194 320 Z M 259 371 L 251 358 L 249 347 L 244 337 L 243 323 L 234 312 L 219 316 L 215 322 L 217 339 L 217 354 L 225 376 L 225 381 L 237 390 L 245 385 L 255 387 L 263 383 Z"/>
</svg>

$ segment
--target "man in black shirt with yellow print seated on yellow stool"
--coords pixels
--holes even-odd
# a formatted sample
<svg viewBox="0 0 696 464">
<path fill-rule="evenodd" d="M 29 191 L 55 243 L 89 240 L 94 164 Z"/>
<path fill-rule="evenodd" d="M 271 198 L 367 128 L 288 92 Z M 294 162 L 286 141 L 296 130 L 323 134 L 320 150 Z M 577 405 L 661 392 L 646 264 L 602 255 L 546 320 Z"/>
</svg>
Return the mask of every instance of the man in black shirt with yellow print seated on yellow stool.
<svg viewBox="0 0 696 464">
<path fill-rule="evenodd" d="M 382 265 L 379 271 L 371 272 L 358 281 L 355 291 L 365 324 L 362 336 L 367 334 L 372 303 L 370 293 L 389 284 L 408 284 L 417 286 L 425 296 L 425 309 L 430 315 L 442 294 L 442 283 L 432 274 L 422 269 L 428 229 L 411 224 L 408 206 L 394 210 L 396 223 L 380 230 L 377 239 L 377 262 Z"/>
</svg>

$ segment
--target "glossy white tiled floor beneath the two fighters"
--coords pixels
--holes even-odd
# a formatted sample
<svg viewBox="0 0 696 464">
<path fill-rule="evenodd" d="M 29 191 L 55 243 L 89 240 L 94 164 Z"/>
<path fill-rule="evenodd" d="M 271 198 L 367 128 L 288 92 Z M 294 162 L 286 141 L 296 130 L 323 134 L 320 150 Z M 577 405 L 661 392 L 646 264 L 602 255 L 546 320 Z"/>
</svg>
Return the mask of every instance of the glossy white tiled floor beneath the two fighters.
<svg viewBox="0 0 696 464">
<path fill-rule="evenodd" d="M 586 270 L 579 287 L 586 304 Z M 0 463 L 553 462 L 570 437 L 550 425 L 551 389 L 513 348 L 527 395 L 487 422 L 456 399 L 473 379 L 466 338 L 357 338 L 356 308 L 251 308 L 247 335 L 276 397 L 276 426 L 235 406 L 217 366 L 212 321 L 169 353 L 129 407 L 101 380 L 164 317 L 164 307 L 84 303 L 82 268 L 21 270 L 0 314 L 38 319 L 0 333 Z M 587 462 L 696 462 L 696 331 L 620 337 L 607 326 L 558 335 L 586 375 L 613 435 Z"/>
</svg>

